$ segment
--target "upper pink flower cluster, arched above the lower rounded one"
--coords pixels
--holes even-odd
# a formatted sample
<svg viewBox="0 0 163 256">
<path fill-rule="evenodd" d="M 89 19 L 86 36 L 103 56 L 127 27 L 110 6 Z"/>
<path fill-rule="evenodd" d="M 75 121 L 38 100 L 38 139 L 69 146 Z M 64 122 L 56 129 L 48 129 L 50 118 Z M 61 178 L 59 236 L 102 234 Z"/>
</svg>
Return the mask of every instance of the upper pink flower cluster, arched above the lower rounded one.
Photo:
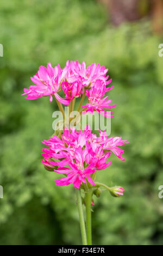
<svg viewBox="0 0 163 256">
<path fill-rule="evenodd" d="M 116 105 L 110 105 L 111 100 L 104 94 L 111 90 L 114 86 L 106 88 L 111 83 L 109 76 L 106 76 L 108 69 L 104 66 L 93 63 L 90 66 L 85 65 L 85 62 L 80 64 L 78 61 L 67 60 L 65 68 L 61 69 L 60 65 L 52 67 L 51 63 L 45 66 L 40 66 L 36 75 L 31 77 L 35 85 L 28 89 L 24 88 L 26 99 L 35 100 L 42 96 L 50 96 L 52 102 L 53 96 L 60 103 L 69 105 L 74 97 L 80 97 L 84 93 L 88 97 L 89 103 L 85 106 L 83 114 L 86 112 L 93 113 L 97 111 L 105 117 L 112 117 L 107 114 L 105 108 L 113 108 Z M 64 98 L 59 95 L 59 92 L 64 93 Z"/>
</svg>

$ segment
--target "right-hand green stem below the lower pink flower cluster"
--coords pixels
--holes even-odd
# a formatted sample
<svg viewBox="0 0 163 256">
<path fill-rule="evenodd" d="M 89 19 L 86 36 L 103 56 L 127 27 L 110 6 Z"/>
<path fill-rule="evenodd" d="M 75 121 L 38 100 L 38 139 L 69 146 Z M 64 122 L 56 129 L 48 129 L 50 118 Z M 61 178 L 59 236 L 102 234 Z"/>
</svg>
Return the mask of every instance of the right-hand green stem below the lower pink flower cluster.
<svg viewBox="0 0 163 256">
<path fill-rule="evenodd" d="M 87 233 L 88 245 L 92 245 L 91 202 L 92 202 L 92 191 L 89 190 L 86 193 L 86 233 Z"/>
</svg>

